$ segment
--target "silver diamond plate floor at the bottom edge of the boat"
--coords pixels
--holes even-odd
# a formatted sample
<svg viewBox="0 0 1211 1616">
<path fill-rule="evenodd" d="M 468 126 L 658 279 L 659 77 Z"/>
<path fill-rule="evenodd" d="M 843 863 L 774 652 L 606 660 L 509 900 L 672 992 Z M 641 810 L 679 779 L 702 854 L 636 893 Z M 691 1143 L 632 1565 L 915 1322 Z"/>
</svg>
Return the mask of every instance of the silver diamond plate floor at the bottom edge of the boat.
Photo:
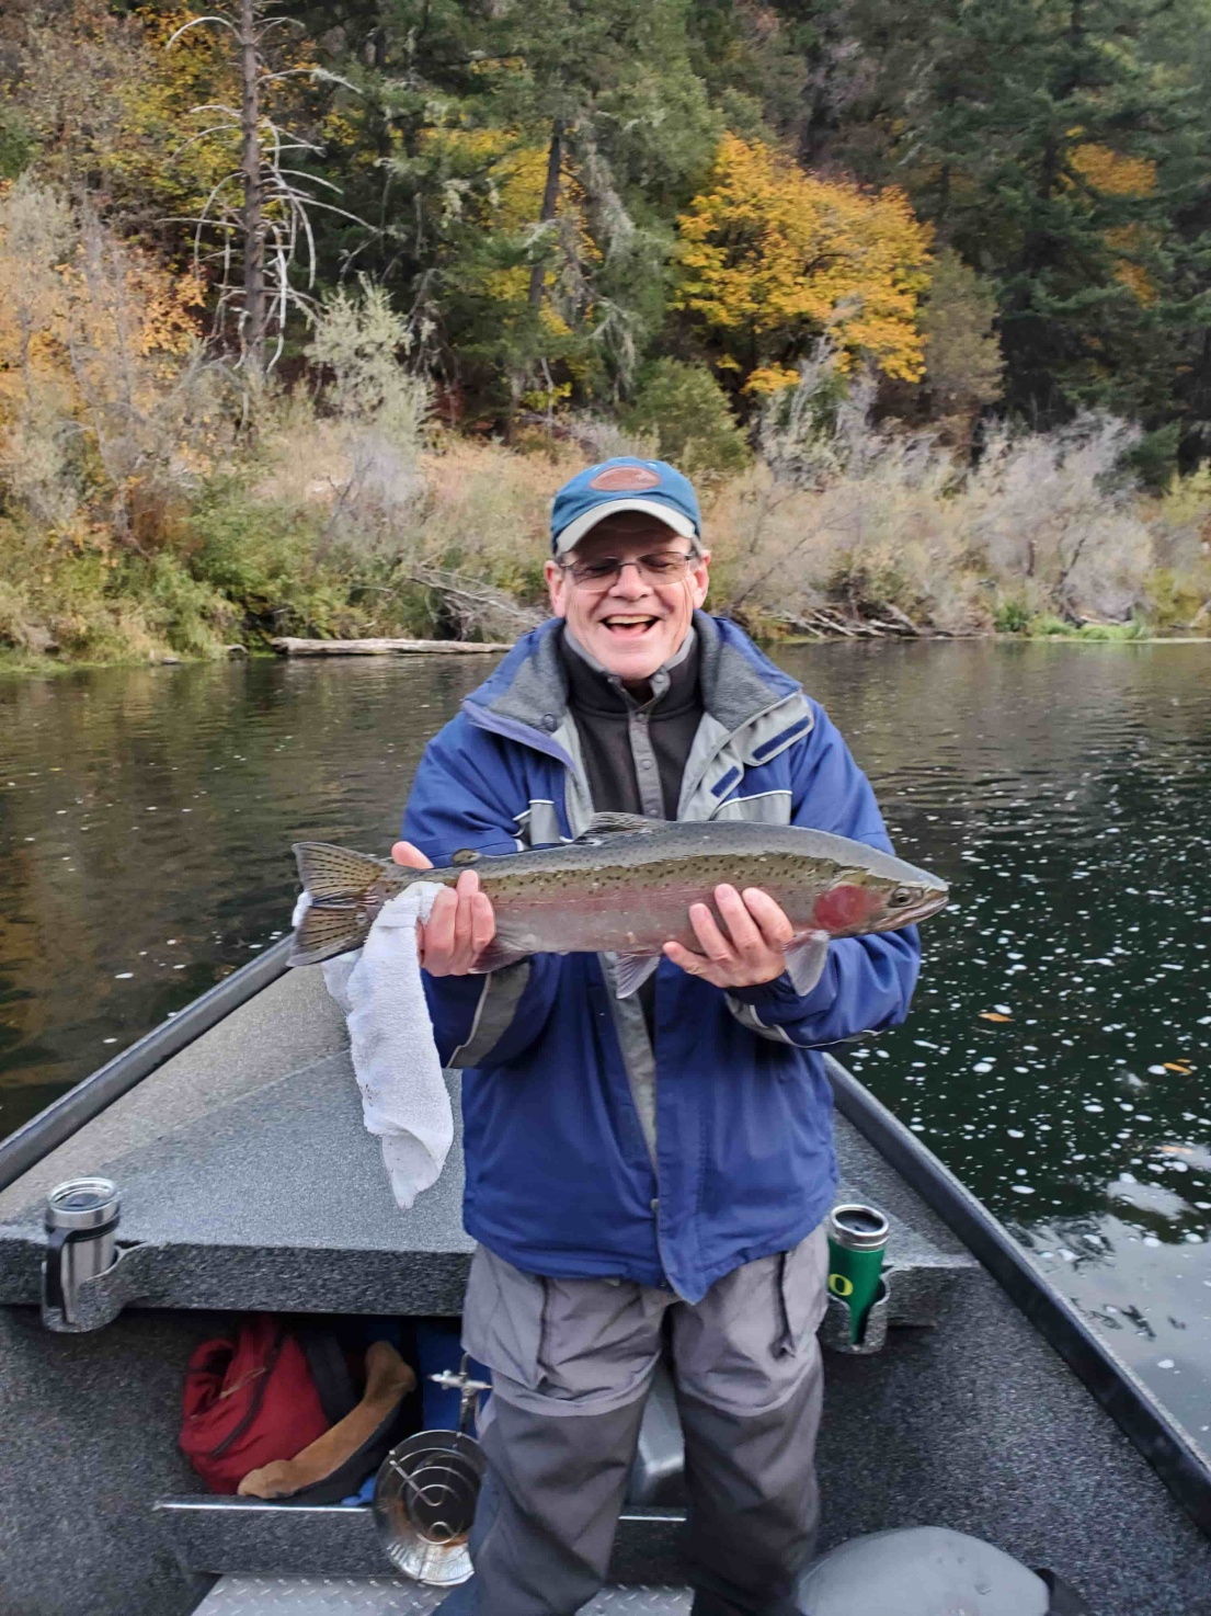
<svg viewBox="0 0 1211 1616">
<path fill-rule="evenodd" d="M 394 1577 L 221 1577 L 194 1616 L 430 1616 L 441 1589 Z M 685 1616 L 689 1589 L 602 1589 L 585 1616 Z"/>
</svg>

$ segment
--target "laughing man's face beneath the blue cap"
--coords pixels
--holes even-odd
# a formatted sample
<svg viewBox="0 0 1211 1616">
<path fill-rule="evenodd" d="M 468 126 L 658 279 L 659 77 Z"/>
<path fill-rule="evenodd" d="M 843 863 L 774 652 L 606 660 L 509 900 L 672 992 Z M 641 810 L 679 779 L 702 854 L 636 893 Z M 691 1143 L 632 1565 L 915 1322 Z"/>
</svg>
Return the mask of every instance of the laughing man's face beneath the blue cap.
<svg viewBox="0 0 1211 1616">
<path fill-rule="evenodd" d="M 564 562 L 596 561 L 609 556 L 638 561 L 641 556 L 677 551 L 688 556 L 693 546 L 656 517 L 636 511 L 597 522 Z M 602 667 L 625 682 L 651 679 L 686 637 L 694 608 L 707 595 L 707 564 L 701 554 L 670 582 L 654 582 L 641 567 L 623 567 L 607 588 L 576 583 L 557 561 L 547 561 L 546 577 L 551 608 L 567 619 L 583 648 Z"/>
</svg>

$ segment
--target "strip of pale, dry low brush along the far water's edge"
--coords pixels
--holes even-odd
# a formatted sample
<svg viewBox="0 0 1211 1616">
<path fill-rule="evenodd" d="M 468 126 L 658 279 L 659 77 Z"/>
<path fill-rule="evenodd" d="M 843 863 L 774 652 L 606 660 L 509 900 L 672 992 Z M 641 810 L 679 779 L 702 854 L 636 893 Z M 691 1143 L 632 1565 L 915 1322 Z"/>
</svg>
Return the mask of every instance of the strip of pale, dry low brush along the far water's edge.
<svg viewBox="0 0 1211 1616">
<path fill-rule="evenodd" d="M 1122 423 L 1004 433 L 975 465 L 865 417 L 796 430 L 699 477 L 712 606 L 764 643 L 1211 635 L 1211 473 L 1135 488 Z M 512 642 L 546 614 L 551 494 L 612 452 L 651 444 L 604 422 L 512 448 L 391 438 L 281 398 L 124 533 L 0 516 L 0 671 Z"/>
</svg>

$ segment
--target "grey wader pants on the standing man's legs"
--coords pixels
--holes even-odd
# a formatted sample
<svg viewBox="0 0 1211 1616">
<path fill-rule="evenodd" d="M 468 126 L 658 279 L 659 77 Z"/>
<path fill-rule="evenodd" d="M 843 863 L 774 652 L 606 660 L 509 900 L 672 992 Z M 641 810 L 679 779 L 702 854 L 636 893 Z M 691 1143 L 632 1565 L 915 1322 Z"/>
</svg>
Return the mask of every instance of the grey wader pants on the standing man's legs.
<svg viewBox="0 0 1211 1616">
<path fill-rule="evenodd" d="M 665 1330 L 694 1616 L 790 1616 L 815 1534 L 825 1270 L 817 1230 L 689 1304 L 630 1280 L 543 1280 L 480 1248 L 463 1346 L 492 1369 L 488 1475 L 475 1576 L 444 1616 L 572 1616 L 601 1589 Z"/>
</svg>

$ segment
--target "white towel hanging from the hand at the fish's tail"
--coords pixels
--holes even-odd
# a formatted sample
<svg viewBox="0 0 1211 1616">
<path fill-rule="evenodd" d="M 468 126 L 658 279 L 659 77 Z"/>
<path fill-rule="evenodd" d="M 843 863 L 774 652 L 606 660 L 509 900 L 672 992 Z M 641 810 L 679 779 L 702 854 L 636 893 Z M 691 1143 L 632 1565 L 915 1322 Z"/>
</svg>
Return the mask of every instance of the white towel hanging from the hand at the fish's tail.
<svg viewBox="0 0 1211 1616">
<path fill-rule="evenodd" d="M 441 892 L 417 881 L 378 911 L 362 949 L 323 962 L 328 992 L 349 1020 L 362 1120 L 383 1141 L 391 1191 L 404 1210 L 436 1185 L 454 1143 L 454 1113 L 441 1075 L 417 958 L 417 921 Z M 297 926 L 310 898 L 294 910 Z"/>
</svg>

